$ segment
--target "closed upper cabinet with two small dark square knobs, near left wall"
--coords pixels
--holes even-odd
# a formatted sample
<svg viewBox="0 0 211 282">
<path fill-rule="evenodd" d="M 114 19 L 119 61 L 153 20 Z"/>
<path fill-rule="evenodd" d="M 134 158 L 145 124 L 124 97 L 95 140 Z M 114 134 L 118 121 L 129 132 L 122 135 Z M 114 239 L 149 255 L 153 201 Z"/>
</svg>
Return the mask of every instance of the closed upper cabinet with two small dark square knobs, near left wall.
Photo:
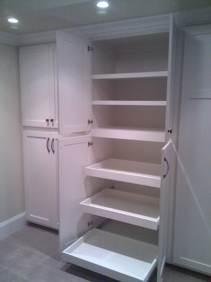
<svg viewBox="0 0 211 282">
<path fill-rule="evenodd" d="M 22 125 L 58 127 L 56 44 L 19 48 Z"/>
</svg>

